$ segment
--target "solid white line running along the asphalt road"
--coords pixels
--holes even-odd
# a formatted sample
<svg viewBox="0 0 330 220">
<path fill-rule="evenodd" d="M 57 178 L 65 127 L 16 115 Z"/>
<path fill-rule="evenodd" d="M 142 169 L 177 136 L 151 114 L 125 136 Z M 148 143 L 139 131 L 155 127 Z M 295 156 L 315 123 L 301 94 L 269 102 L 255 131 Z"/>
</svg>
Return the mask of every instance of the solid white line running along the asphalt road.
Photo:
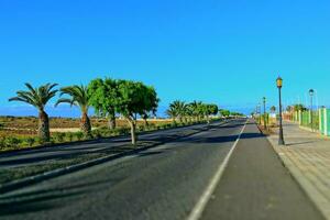
<svg viewBox="0 0 330 220">
<path fill-rule="evenodd" d="M 248 120 L 245 121 L 245 124 L 243 127 L 243 129 L 241 130 L 237 141 L 234 142 L 233 146 L 231 147 L 231 150 L 229 151 L 229 153 L 227 154 L 226 158 L 223 160 L 223 162 L 220 164 L 216 175 L 212 177 L 210 184 L 208 185 L 208 187 L 206 188 L 205 193 L 202 194 L 202 196 L 200 197 L 199 201 L 196 204 L 196 206 L 194 207 L 193 211 L 190 212 L 190 215 L 188 216 L 187 220 L 198 220 L 201 215 L 202 215 L 202 211 L 205 210 L 208 201 L 210 200 L 211 196 L 212 196 L 212 193 L 215 191 L 223 172 L 224 172 L 224 168 L 227 167 L 228 163 L 229 163 L 229 160 L 233 153 L 233 151 L 235 150 L 240 139 L 241 139 L 241 135 L 242 133 L 244 132 L 245 130 L 245 127 L 246 127 L 246 122 Z"/>
</svg>

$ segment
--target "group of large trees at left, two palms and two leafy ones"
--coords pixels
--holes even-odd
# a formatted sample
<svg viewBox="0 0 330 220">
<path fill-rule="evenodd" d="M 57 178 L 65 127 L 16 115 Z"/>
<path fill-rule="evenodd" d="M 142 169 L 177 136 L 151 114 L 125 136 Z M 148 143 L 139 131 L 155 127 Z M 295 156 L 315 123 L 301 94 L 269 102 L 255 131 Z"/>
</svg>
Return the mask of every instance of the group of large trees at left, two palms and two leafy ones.
<svg viewBox="0 0 330 220">
<path fill-rule="evenodd" d="M 86 136 L 90 135 L 91 124 L 88 110 L 94 107 L 99 116 L 109 118 L 109 128 L 116 128 L 116 113 L 121 114 L 130 124 L 132 144 L 136 144 L 136 119 L 147 119 L 155 114 L 158 101 L 155 89 L 140 81 L 97 78 L 88 86 L 68 86 L 56 89 L 57 84 L 46 84 L 37 88 L 25 84 L 28 90 L 16 91 L 16 97 L 9 101 L 22 101 L 38 110 L 38 136 L 50 141 L 50 120 L 45 111 L 47 102 L 59 94 L 55 103 L 69 103 L 79 107 L 81 111 L 80 129 Z"/>
</svg>

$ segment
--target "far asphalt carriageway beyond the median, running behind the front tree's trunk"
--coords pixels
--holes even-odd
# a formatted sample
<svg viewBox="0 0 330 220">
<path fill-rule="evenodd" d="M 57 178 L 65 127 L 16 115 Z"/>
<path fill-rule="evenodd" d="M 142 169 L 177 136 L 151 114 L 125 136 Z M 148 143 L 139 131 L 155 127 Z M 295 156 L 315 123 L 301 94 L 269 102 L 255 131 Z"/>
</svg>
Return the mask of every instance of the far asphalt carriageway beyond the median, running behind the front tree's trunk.
<svg viewBox="0 0 330 220">
<path fill-rule="evenodd" d="M 222 122 L 212 122 L 212 124 L 219 124 Z M 139 135 L 140 141 L 155 141 L 164 142 L 172 136 L 175 136 L 178 132 L 185 131 L 204 131 L 207 129 L 207 124 L 196 124 L 184 128 L 168 129 L 153 131 Z M 20 167 L 26 165 L 34 165 L 40 163 L 46 163 L 50 160 L 65 160 L 73 156 L 80 156 L 90 153 L 108 153 L 111 148 L 118 146 L 129 145 L 131 143 L 130 136 L 124 138 L 111 138 L 89 141 L 78 144 L 66 144 L 59 146 L 47 146 L 33 150 L 24 150 L 19 152 L 0 153 L 0 168 Z"/>
</svg>

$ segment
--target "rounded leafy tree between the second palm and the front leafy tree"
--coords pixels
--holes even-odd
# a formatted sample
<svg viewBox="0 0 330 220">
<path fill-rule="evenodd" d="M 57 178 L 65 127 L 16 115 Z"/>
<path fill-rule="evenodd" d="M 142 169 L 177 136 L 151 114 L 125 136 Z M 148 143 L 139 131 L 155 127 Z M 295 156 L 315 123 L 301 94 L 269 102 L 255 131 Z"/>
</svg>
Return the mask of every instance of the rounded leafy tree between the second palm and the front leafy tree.
<svg viewBox="0 0 330 220">
<path fill-rule="evenodd" d="M 116 105 L 119 99 L 118 81 L 111 78 L 94 79 L 88 85 L 89 103 L 96 112 L 109 119 L 109 129 L 116 129 Z"/>
</svg>

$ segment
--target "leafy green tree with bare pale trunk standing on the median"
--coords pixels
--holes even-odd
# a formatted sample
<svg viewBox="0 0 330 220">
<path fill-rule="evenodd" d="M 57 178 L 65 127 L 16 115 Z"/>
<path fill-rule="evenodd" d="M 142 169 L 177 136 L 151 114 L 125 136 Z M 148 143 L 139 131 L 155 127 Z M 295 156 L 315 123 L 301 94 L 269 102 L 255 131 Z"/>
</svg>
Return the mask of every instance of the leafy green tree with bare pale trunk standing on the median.
<svg viewBox="0 0 330 220">
<path fill-rule="evenodd" d="M 119 99 L 117 111 L 121 113 L 131 128 L 132 144 L 136 144 L 136 118 L 138 114 L 143 116 L 145 111 L 152 111 L 156 106 L 157 99 L 151 103 L 147 96 L 152 87 L 147 87 L 142 82 L 131 80 L 118 81 Z"/>
</svg>

